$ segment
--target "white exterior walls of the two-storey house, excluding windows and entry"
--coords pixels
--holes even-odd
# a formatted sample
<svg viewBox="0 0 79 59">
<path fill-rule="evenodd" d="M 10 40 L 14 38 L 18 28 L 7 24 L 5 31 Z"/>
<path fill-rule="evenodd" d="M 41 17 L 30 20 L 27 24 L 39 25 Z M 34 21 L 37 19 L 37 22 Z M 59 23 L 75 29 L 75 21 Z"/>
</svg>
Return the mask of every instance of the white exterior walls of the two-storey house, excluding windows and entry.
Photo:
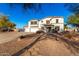
<svg viewBox="0 0 79 59">
<path fill-rule="evenodd" d="M 56 19 L 58 19 L 58 23 L 56 23 Z M 48 17 L 43 18 L 40 21 L 38 20 L 31 20 L 31 21 L 37 21 L 37 24 L 33 25 L 31 24 L 31 21 L 28 22 L 28 28 L 25 28 L 25 32 L 36 32 L 43 27 L 44 24 L 46 24 L 46 20 L 50 21 L 51 25 L 59 26 L 60 32 L 64 30 L 64 18 L 63 17 Z"/>
</svg>

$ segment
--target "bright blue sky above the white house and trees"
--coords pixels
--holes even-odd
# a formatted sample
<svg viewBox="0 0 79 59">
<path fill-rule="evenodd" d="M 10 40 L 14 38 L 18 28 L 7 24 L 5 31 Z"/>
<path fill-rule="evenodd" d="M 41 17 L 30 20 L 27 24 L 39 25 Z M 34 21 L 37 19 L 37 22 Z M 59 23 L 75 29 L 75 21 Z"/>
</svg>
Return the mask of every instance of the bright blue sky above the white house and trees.
<svg viewBox="0 0 79 59">
<path fill-rule="evenodd" d="M 0 14 L 7 15 L 9 20 L 16 24 L 16 28 L 23 28 L 31 19 L 41 20 L 48 16 L 63 16 L 66 23 L 67 17 L 71 14 L 64 7 L 64 3 L 42 3 L 41 8 L 36 12 L 32 9 L 23 11 L 21 7 L 20 5 L 15 5 L 11 8 L 8 3 L 1 3 Z"/>
</svg>

